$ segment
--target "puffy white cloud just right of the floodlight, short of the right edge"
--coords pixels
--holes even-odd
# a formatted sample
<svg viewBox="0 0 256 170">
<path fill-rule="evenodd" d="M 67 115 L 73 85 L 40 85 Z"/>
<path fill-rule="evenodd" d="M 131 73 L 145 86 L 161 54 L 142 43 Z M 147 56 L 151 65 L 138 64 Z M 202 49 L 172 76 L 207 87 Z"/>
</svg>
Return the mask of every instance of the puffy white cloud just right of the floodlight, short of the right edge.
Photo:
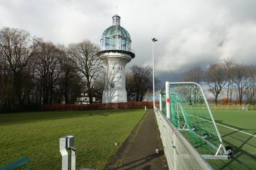
<svg viewBox="0 0 256 170">
<path fill-rule="evenodd" d="M 218 61 L 221 38 L 207 31 L 202 24 L 186 28 L 165 46 L 166 54 L 158 60 L 159 71 L 180 71 L 206 66 Z"/>
</svg>

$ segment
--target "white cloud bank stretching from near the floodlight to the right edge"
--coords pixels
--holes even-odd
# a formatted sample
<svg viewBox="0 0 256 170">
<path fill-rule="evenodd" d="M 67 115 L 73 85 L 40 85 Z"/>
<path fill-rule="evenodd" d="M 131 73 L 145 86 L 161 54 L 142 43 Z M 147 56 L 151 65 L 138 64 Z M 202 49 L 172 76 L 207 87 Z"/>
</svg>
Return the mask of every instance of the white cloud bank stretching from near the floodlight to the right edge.
<svg viewBox="0 0 256 170">
<path fill-rule="evenodd" d="M 256 23 L 239 23 L 227 27 L 224 33 L 208 31 L 196 24 L 186 28 L 165 46 L 165 54 L 158 60 L 159 71 L 186 71 L 206 68 L 223 58 L 238 63 L 256 65 Z"/>
</svg>

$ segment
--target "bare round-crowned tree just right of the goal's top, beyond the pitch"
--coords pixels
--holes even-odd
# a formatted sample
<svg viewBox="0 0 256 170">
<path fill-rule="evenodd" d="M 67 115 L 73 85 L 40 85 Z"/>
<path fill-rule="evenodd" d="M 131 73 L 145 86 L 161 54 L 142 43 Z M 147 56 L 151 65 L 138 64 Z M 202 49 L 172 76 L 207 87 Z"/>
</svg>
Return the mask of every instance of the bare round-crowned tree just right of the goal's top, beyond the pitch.
<svg viewBox="0 0 256 170">
<path fill-rule="evenodd" d="M 218 105 L 218 95 L 227 85 L 226 70 L 221 64 L 213 64 L 205 72 L 208 91 L 215 96 L 215 105 Z"/>
</svg>

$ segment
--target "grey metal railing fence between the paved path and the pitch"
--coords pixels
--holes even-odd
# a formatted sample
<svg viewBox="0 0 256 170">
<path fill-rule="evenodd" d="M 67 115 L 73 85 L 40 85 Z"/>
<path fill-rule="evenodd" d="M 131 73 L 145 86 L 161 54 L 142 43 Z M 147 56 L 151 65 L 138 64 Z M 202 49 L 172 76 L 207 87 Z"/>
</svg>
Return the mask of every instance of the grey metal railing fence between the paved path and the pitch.
<svg viewBox="0 0 256 170">
<path fill-rule="evenodd" d="M 159 108 L 154 112 L 169 170 L 213 170 Z"/>
</svg>

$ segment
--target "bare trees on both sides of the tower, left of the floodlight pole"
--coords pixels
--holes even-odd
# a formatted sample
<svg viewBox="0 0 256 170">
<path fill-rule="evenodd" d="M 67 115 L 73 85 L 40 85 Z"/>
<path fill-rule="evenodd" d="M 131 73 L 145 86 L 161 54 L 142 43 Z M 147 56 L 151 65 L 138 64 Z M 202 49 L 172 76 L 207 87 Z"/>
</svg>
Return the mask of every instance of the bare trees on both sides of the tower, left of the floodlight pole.
<svg viewBox="0 0 256 170">
<path fill-rule="evenodd" d="M 23 29 L 1 28 L 0 111 L 74 103 L 82 91 L 88 91 L 92 103 L 93 92 L 102 93 L 106 79 L 98 51 L 90 40 L 65 46 Z M 132 66 L 126 89 L 128 101 L 142 101 L 152 93 L 152 68 Z"/>
</svg>

